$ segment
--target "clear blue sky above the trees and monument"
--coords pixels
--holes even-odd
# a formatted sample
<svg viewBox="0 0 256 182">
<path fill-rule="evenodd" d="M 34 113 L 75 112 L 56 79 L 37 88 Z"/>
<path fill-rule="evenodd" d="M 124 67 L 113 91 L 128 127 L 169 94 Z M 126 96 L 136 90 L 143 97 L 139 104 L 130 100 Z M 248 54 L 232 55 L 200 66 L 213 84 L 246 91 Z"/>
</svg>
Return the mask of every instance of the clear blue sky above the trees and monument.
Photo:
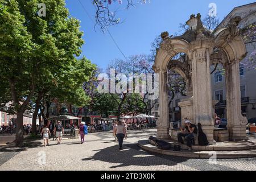
<svg viewBox="0 0 256 182">
<path fill-rule="evenodd" d="M 95 8 L 91 0 L 80 0 L 94 21 Z M 137 0 L 134 0 L 137 1 Z M 126 1 L 123 1 L 125 3 Z M 209 3 L 216 3 L 217 14 L 220 20 L 237 6 L 253 3 L 252 0 L 151 0 L 151 3 L 138 4 L 129 10 L 115 3 L 113 9 L 119 7 L 122 11 L 117 14 L 123 23 L 109 27 L 115 42 L 126 57 L 137 54 L 148 54 L 151 42 L 156 35 L 163 31 L 171 34 L 179 31 L 179 24 L 189 19 L 191 14 L 201 13 L 204 17 L 208 14 Z M 79 0 L 66 0 L 67 8 L 72 16 L 81 21 L 81 30 L 84 31 L 85 44 L 82 55 L 92 63 L 105 69 L 110 60 L 124 59 L 118 51 L 108 33 L 103 34 L 99 28 L 94 30 L 94 22 L 85 13 Z"/>
</svg>

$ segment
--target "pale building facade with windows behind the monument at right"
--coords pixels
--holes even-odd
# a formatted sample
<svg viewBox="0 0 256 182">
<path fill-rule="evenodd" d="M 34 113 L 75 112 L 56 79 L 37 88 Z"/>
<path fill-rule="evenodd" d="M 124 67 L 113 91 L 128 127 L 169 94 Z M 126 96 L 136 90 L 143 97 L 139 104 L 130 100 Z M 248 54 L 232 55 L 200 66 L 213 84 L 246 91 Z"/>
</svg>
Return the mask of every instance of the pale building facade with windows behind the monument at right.
<svg viewBox="0 0 256 182">
<path fill-rule="evenodd" d="M 247 49 L 247 56 L 240 64 L 240 90 L 241 90 L 241 107 L 242 113 L 246 115 L 247 119 L 256 118 L 256 3 L 235 7 L 228 16 L 218 25 L 217 28 L 225 27 L 231 18 L 236 16 L 241 17 L 241 22 L 238 27 L 241 34 L 245 37 L 245 45 Z M 244 32 L 246 28 L 251 27 L 253 34 Z M 247 36 L 247 38 L 246 38 Z M 251 62 L 251 64 L 250 64 Z M 213 69 L 213 68 L 212 68 Z M 212 74 L 212 96 L 213 100 L 218 103 L 215 106 L 215 111 L 221 118 L 226 118 L 226 88 L 225 88 L 225 71 L 220 65 L 218 69 Z"/>
</svg>

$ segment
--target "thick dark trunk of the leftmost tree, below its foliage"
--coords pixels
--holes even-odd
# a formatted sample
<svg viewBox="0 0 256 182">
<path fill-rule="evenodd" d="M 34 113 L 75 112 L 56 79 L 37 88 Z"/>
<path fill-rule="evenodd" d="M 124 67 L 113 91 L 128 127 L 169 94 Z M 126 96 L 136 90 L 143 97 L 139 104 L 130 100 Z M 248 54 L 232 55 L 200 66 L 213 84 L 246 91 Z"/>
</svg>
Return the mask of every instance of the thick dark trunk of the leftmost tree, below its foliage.
<svg viewBox="0 0 256 182">
<path fill-rule="evenodd" d="M 16 147 L 23 146 L 23 111 L 18 111 L 17 119 L 16 119 L 16 136 L 15 136 L 15 144 Z"/>
</svg>

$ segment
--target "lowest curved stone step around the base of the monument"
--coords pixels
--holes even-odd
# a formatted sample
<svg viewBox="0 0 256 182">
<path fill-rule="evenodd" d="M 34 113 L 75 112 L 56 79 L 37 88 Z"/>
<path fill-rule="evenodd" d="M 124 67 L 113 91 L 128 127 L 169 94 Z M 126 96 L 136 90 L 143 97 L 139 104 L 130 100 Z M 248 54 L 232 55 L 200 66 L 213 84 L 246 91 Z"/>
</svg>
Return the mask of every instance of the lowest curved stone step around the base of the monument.
<svg viewBox="0 0 256 182">
<path fill-rule="evenodd" d="M 201 158 L 209 159 L 210 156 L 216 154 L 217 159 L 235 159 L 235 158 L 253 158 L 256 157 L 256 150 L 240 150 L 240 151 L 198 151 L 198 150 L 181 150 L 181 151 L 172 151 L 172 150 L 160 150 L 152 144 L 149 144 L 146 140 L 139 140 L 139 146 L 149 152 L 154 152 L 157 154 L 163 155 L 172 155 L 172 156 L 181 156 L 186 158 Z"/>
</svg>

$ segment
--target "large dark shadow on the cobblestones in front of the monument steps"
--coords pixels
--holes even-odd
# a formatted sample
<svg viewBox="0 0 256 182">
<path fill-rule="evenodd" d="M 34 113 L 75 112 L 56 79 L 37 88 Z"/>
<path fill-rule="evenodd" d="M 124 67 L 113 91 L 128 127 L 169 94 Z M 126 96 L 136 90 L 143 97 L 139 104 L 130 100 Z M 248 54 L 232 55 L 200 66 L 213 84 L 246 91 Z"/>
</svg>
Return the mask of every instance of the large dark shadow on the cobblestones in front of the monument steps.
<svg viewBox="0 0 256 182">
<path fill-rule="evenodd" d="M 82 159 L 83 161 L 90 160 L 100 160 L 102 162 L 108 163 L 117 163 L 117 166 L 112 166 L 110 168 L 118 168 L 118 167 L 129 167 L 129 166 L 176 166 L 177 163 L 182 163 L 187 161 L 189 158 L 162 158 L 161 156 L 150 154 L 148 152 L 142 152 L 136 150 L 133 146 L 129 146 L 129 144 L 123 145 L 123 150 L 119 151 L 119 146 L 112 146 L 108 148 L 104 148 L 102 150 L 94 150 L 97 151 L 96 154 L 90 156 L 89 158 Z M 128 147 L 126 147 L 128 146 Z M 129 148 L 132 147 L 132 148 Z M 108 156 L 106 156 L 108 154 Z"/>
</svg>

